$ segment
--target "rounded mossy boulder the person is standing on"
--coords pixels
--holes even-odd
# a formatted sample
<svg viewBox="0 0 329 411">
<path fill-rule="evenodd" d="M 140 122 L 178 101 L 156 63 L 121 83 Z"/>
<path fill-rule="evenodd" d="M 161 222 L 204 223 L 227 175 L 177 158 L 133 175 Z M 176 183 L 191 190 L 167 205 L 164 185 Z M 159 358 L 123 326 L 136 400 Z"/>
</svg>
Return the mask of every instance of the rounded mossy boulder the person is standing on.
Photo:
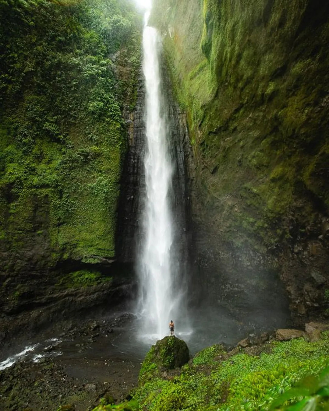
<svg viewBox="0 0 329 411">
<path fill-rule="evenodd" d="M 182 367 L 189 359 L 190 351 L 182 339 L 170 336 L 158 340 L 146 354 L 139 373 L 139 385 L 144 385 L 161 371 Z"/>
</svg>

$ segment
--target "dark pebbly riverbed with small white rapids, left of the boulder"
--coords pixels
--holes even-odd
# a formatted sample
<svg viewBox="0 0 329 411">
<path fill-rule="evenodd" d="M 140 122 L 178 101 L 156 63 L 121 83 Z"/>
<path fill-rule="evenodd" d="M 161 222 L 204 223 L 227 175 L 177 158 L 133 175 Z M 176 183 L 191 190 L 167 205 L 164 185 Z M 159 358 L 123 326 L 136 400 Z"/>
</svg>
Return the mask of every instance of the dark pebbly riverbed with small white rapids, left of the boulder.
<svg viewBox="0 0 329 411">
<path fill-rule="evenodd" d="M 131 319 L 132 314 L 122 314 L 67 323 L 57 338 L 49 338 L 49 330 L 38 335 L 37 343 L 2 347 L 2 358 L 9 352 L 21 356 L 11 355 L 0 363 L 5 368 L 15 361 L 0 371 L 0 409 L 54 411 L 62 406 L 86 411 L 105 396 L 125 399 L 137 384 L 141 366 L 141 358 L 120 352 L 116 344 Z"/>
</svg>

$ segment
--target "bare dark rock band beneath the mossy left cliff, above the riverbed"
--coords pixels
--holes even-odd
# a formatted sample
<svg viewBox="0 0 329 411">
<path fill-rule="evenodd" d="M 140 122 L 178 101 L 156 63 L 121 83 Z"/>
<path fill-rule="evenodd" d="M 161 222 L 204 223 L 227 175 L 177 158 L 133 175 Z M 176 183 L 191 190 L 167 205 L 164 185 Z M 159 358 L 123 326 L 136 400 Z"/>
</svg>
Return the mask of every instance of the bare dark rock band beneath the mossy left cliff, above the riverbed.
<svg viewBox="0 0 329 411">
<path fill-rule="evenodd" d="M 34 290 L 32 288 L 34 284 Z M 120 306 L 123 301 L 131 298 L 133 285 L 116 282 L 65 288 L 41 282 L 37 278 L 30 282 L 28 291 L 13 298 L 1 299 L 0 315 L 0 346 L 12 341 L 13 337 L 25 339 L 39 330 L 59 325 L 63 321 L 83 318 L 92 310 L 110 309 Z"/>
</svg>

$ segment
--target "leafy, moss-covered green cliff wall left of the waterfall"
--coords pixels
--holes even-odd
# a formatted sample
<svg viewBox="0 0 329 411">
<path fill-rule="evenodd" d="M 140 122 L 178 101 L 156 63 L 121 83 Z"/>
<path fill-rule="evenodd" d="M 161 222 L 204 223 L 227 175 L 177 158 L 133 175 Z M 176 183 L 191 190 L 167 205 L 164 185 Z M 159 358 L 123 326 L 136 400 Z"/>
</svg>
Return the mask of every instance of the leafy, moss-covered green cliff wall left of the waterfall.
<svg viewBox="0 0 329 411">
<path fill-rule="evenodd" d="M 0 275 L 10 312 L 8 301 L 32 307 L 48 286 L 113 275 L 142 22 L 124 0 L 3 0 L 0 18 Z"/>
</svg>

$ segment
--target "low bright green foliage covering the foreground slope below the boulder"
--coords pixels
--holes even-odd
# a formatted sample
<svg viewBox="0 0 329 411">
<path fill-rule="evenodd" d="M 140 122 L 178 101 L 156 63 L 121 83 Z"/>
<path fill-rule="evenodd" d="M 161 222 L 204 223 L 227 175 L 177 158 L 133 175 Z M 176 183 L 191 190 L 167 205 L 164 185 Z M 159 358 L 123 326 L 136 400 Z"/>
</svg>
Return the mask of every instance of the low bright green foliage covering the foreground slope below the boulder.
<svg viewBox="0 0 329 411">
<path fill-rule="evenodd" d="M 144 379 L 146 370 L 152 368 L 149 353 L 134 398 L 141 409 L 150 411 L 269 410 L 281 404 L 292 404 L 296 397 L 303 396 L 302 405 L 308 401 L 327 404 L 328 369 L 322 370 L 329 365 L 328 332 L 322 332 L 318 342 L 275 341 L 264 344 L 259 351 L 258 355 L 243 350 L 226 353 L 222 346 L 215 345 L 196 354 L 193 363 L 184 365 L 180 372 L 157 373 L 151 379 Z M 318 374 L 318 378 L 313 377 Z M 300 383 L 301 389 L 289 391 L 305 376 L 309 377 Z M 284 397 L 280 397 L 283 393 Z"/>
</svg>

